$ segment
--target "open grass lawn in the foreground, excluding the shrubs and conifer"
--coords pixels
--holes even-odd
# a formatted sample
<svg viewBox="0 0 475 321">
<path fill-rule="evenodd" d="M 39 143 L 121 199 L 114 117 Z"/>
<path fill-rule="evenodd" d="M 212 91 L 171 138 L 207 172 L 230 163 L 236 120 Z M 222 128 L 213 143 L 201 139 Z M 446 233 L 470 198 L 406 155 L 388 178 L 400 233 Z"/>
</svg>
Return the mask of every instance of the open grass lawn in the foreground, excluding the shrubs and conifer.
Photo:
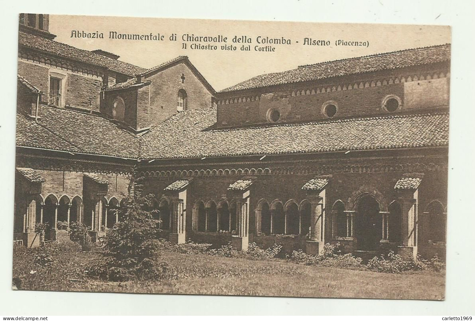
<svg viewBox="0 0 475 321">
<path fill-rule="evenodd" d="M 13 277 L 21 280 L 20 289 L 424 300 L 443 300 L 445 292 L 445 273 L 386 274 L 304 266 L 285 259 L 256 261 L 172 252 L 160 257 L 169 264 L 172 277 L 104 282 L 84 274 L 101 258 L 98 252 L 57 252 L 50 266 L 33 263 L 32 253 L 14 251 Z"/>
</svg>

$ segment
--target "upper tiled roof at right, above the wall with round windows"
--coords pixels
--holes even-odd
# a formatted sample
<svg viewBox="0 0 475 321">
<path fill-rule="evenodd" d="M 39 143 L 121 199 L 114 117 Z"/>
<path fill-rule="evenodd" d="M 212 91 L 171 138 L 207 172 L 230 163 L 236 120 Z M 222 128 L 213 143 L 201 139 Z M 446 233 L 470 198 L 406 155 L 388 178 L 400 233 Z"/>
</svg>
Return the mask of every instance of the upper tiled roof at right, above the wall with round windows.
<svg viewBox="0 0 475 321">
<path fill-rule="evenodd" d="M 262 74 L 220 92 L 305 82 L 421 64 L 434 64 L 450 60 L 450 47 L 450 44 L 446 44 L 304 65 L 284 72 Z"/>
</svg>

